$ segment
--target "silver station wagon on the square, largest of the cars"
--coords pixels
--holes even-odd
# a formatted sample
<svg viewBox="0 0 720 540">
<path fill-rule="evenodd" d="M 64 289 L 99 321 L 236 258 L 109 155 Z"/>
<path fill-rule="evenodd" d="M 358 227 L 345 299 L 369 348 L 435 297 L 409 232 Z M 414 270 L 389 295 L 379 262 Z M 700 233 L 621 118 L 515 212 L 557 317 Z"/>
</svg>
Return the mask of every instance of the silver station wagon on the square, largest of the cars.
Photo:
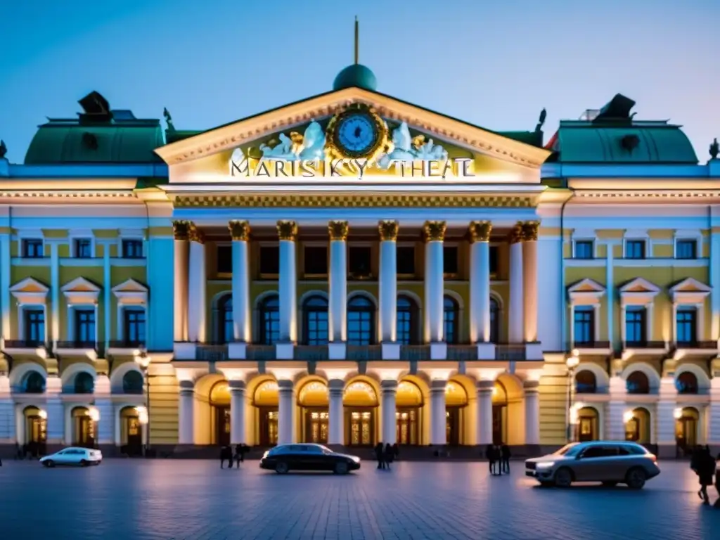
<svg viewBox="0 0 720 540">
<path fill-rule="evenodd" d="M 657 458 L 644 446 L 620 441 L 593 441 L 563 446 L 554 454 L 528 459 L 526 476 L 541 485 L 569 487 L 572 482 L 625 484 L 639 490 L 660 474 Z"/>
</svg>

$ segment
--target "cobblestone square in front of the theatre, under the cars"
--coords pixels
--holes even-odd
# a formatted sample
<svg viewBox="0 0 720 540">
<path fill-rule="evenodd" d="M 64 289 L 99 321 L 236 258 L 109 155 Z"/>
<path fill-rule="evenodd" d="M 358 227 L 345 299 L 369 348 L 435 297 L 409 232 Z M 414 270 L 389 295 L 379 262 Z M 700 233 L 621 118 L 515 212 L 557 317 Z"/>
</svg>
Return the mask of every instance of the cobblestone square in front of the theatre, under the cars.
<svg viewBox="0 0 720 540">
<path fill-rule="evenodd" d="M 0 468 L 0 538 L 567 539 L 720 538 L 686 463 L 665 462 L 644 490 L 536 487 L 513 462 L 371 462 L 347 477 L 279 476 L 246 462 L 107 460 L 88 469 Z M 713 497 L 715 493 L 713 490 Z M 711 531 L 714 531 L 711 532 Z"/>
</svg>

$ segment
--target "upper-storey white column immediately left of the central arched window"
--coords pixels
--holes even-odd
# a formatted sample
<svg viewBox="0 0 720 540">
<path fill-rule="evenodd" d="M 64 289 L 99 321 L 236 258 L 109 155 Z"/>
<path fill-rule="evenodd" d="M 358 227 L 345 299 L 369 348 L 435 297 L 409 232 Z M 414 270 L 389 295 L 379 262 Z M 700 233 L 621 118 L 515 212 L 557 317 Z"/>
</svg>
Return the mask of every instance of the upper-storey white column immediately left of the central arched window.
<svg viewBox="0 0 720 540">
<path fill-rule="evenodd" d="M 347 341 L 348 222 L 330 221 L 330 341 Z"/>
</svg>

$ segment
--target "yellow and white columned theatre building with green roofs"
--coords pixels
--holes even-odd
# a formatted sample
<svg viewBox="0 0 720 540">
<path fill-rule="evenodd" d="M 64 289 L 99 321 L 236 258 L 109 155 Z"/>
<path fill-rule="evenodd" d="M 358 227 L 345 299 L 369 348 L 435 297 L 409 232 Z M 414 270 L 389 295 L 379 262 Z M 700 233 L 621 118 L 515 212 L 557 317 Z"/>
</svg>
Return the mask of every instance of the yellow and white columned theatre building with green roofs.
<svg viewBox="0 0 720 540">
<path fill-rule="evenodd" d="M 205 131 L 86 96 L 0 145 L 0 444 L 719 446 L 718 148 L 633 105 L 495 132 L 358 64 Z"/>
</svg>

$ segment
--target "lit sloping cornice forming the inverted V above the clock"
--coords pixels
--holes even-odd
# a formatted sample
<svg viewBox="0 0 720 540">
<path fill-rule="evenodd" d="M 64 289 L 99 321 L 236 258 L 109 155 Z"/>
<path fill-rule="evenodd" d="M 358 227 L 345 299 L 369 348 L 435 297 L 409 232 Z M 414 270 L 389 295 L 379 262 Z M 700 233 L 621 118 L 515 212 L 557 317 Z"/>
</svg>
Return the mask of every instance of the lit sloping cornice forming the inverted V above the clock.
<svg viewBox="0 0 720 540">
<path fill-rule="evenodd" d="M 270 132 L 288 130 L 312 119 L 331 116 L 354 103 L 374 107 L 380 116 L 408 122 L 408 125 L 428 135 L 436 135 L 443 140 L 521 166 L 539 168 L 551 153 L 544 148 L 536 148 L 442 114 L 398 102 L 389 96 L 358 88 L 343 89 L 310 98 L 305 102 L 290 104 L 179 140 L 155 151 L 168 165 L 192 161 L 223 150 L 231 150 Z"/>
</svg>

